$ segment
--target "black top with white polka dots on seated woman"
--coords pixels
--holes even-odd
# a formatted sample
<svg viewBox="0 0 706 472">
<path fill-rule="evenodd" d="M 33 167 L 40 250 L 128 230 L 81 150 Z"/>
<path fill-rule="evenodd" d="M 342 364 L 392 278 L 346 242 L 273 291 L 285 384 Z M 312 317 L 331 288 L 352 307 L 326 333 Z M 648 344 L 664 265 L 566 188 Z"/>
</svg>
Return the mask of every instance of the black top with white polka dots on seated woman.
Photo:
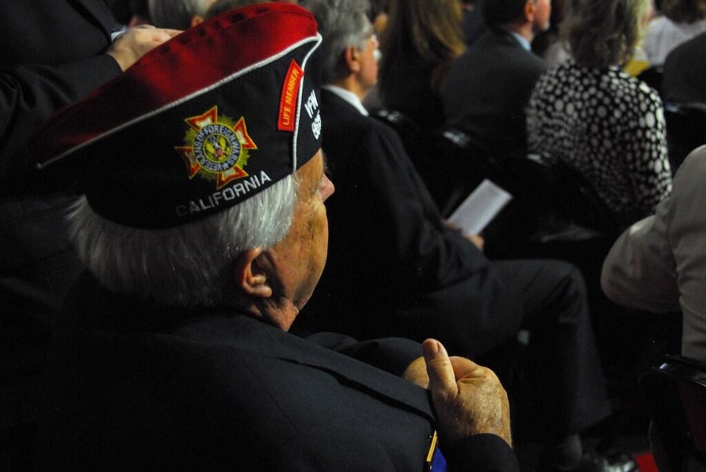
<svg viewBox="0 0 706 472">
<path fill-rule="evenodd" d="M 616 215 L 650 214 L 671 192 L 662 101 L 618 67 L 565 61 L 527 108 L 527 145 L 572 165 Z"/>
</svg>

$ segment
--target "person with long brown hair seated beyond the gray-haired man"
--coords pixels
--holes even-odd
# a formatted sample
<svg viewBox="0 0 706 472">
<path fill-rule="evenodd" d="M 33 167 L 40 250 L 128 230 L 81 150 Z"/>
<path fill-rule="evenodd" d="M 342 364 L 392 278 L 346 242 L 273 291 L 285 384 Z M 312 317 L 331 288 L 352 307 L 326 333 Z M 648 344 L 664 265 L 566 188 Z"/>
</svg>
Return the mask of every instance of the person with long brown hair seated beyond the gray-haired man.
<svg viewBox="0 0 706 472">
<path fill-rule="evenodd" d="M 458 0 L 390 0 L 378 94 L 425 132 L 443 126 L 441 87 L 465 45 Z"/>
</svg>

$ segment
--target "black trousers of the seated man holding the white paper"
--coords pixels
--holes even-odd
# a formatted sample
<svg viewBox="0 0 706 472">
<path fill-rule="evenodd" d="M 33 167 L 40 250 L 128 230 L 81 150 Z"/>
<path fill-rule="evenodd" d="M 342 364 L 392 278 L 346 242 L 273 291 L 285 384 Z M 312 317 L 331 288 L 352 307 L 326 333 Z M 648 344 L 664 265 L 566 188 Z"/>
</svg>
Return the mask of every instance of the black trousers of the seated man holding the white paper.
<svg viewBox="0 0 706 472">
<path fill-rule="evenodd" d="M 519 365 L 522 390 L 530 394 L 513 408 L 531 413 L 539 434 L 580 432 L 611 412 L 585 283 L 566 262 L 489 262 L 473 277 L 397 311 L 390 329 L 417 340 L 436 337 L 451 353 L 469 358 L 487 355 L 527 329 Z"/>
</svg>

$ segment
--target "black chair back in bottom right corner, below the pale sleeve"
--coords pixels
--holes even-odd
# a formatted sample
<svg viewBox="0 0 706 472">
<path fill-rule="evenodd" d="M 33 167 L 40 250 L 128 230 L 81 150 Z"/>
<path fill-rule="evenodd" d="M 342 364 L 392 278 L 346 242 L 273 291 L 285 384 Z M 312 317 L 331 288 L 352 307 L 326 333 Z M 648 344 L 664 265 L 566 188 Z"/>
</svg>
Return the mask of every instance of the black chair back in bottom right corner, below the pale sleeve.
<svg viewBox="0 0 706 472">
<path fill-rule="evenodd" d="M 706 467 L 706 364 L 665 356 L 640 375 L 640 390 L 671 468 Z"/>
</svg>

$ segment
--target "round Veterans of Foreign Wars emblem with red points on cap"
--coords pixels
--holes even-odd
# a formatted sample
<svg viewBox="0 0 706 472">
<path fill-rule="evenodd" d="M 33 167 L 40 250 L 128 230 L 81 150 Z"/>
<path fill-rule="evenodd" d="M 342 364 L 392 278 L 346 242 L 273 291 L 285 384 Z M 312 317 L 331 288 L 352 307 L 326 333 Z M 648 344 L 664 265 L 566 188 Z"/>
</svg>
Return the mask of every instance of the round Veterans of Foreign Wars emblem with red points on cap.
<svg viewBox="0 0 706 472">
<path fill-rule="evenodd" d="M 215 180 L 216 189 L 220 189 L 230 181 L 248 176 L 243 168 L 248 164 L 249 151 L 258 147 L 248 135 L 242 116 L 237 122 L 228 116 L 218 116 L 215 106 L 184 121 L 189 124 L 184 146 L 174 149 L 184 159 L 190 179 L 199 174 Z"/>
</svg>

